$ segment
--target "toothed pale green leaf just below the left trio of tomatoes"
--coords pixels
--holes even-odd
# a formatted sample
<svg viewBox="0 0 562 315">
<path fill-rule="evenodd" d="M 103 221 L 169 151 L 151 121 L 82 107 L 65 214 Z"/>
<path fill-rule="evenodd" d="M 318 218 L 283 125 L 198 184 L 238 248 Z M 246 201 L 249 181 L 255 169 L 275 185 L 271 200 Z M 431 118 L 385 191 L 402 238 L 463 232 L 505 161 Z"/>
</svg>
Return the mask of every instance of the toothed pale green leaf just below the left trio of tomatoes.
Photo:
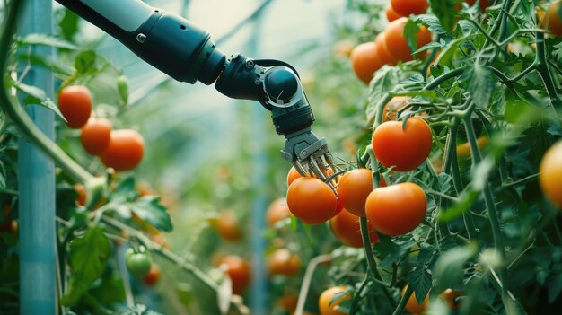
<svg viewBox="0 0 562 315">
<path fill-rule="evenodd" d="M 166 207 L 160 203 L 160 197 L 145 196 L 136 200 L 131 209 L 141 219 L 154 225 L 160 231 L 171 232 L 170 214 L 166 212 Z"/>
</svg>

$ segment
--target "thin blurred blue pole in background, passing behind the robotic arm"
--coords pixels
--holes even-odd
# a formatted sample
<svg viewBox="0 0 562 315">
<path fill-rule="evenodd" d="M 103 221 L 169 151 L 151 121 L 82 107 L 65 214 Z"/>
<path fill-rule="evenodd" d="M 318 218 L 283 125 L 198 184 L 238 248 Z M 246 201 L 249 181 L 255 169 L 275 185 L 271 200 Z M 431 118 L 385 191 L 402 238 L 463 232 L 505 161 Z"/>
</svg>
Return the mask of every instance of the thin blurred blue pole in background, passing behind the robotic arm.
<svg viewBox="0 0 562 315">
<path fill-rule="evenodd" d="M 258 39 L 261 35 L 261 17 L 263 13 L 256 15 L 252 25 L 252 35 L 249 42 L 250 56 L 258 57 L 259 46 Z M 254 264 L 251 285 L 251 300 L 250 308 L 252 314 L 266 314 L 267 313 L 267 297 L 268 297 L 268 283 L 265 267 L 266 241 L 263 237 L 263 232 L 266 229 L 265 210 L 268 206 L 268 199 L 265 192 L 261 190 L 264 182 L 266 182 L 268 155 L 265 145 L 264 135 L 267 130 L 264 122 L 268 117 L 266 111 L 257 104 L 252 104 L 251 109 L 251 135 L 252 144 L 256 149 L 254 151 L 253 165 L 254 172 L 252 176 L 253 187 L 257 188 L 255 191 L 252 203 L 252 237 L 251 249 L 253 253 L 252 262 Z"/>
</svg>

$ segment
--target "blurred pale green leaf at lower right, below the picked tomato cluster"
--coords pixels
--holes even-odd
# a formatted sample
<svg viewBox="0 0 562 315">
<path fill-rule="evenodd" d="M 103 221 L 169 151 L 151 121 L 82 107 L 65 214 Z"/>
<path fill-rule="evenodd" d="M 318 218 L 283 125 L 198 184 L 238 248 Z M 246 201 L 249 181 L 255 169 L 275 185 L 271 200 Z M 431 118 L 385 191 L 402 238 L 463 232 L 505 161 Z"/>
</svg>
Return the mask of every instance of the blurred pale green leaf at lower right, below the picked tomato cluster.
<svg viewBox="0 0 562 315">
<path fill-rule="evenodd" d="M 453 284 L 461 281 L 464 274 L 464 264 L 478 252 L 479 247 L 476 243 L 470 243 L 463 247 L 443 252 L 433 268 L 435 278 L 434 292 L 443 292 L 447 288 L 454 287 Z"/>
</svg>

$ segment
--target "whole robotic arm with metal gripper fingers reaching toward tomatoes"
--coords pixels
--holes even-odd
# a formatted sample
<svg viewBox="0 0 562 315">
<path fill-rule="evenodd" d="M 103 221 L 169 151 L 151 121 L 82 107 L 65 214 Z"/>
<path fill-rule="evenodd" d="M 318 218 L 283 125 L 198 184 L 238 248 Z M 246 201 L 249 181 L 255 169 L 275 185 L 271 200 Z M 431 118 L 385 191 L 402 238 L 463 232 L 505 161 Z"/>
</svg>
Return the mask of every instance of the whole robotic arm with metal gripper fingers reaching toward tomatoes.
<svg viewBox="0 0 562 315">
<path fill-rule="evenodd" d="M 233 98 L 259 101 L 285 136 L 282 157 L 301 175 L 328 180 L 334 169 L 328 144 L 311 130 L 314 116 L 293 66 L 278 60 L 226 59 L 208 32 L 141 0 L 57 0 L 118 39 L 148 64 L 177 81 L 209 85 Z M 329 183 L 332 188 L 332 183 Z"/>
</svg>

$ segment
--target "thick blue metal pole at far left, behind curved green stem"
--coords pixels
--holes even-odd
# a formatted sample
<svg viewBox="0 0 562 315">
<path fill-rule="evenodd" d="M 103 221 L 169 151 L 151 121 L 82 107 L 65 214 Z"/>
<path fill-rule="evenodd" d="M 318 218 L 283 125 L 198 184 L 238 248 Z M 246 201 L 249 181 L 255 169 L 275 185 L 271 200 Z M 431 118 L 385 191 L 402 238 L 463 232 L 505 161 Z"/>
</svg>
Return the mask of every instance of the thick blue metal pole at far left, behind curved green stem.
<svg viewBox="0 0 562 315">
<path fill-rule="evenodd" d="M 27 1 L 23 8 L 19 35 L 53 33 L 51 0 Z M 29 49 L 29 50 L 28 50 Z M 21 54 L 52 57 L 53 48 L 22 48 Z M 53 75 L 48 69 L 19 66 L 23 83 L 37 86 L 53 97 Z M 54 114 L 40 106 L 26 107 L 35 124 L 51 139 L 54 137 Z M 55 314 L 56 234 L 55 167 L 26 139 L 19 142 L 18 155 L 19 231 L 20 231 L 20 313 Z"/>
</svg>

